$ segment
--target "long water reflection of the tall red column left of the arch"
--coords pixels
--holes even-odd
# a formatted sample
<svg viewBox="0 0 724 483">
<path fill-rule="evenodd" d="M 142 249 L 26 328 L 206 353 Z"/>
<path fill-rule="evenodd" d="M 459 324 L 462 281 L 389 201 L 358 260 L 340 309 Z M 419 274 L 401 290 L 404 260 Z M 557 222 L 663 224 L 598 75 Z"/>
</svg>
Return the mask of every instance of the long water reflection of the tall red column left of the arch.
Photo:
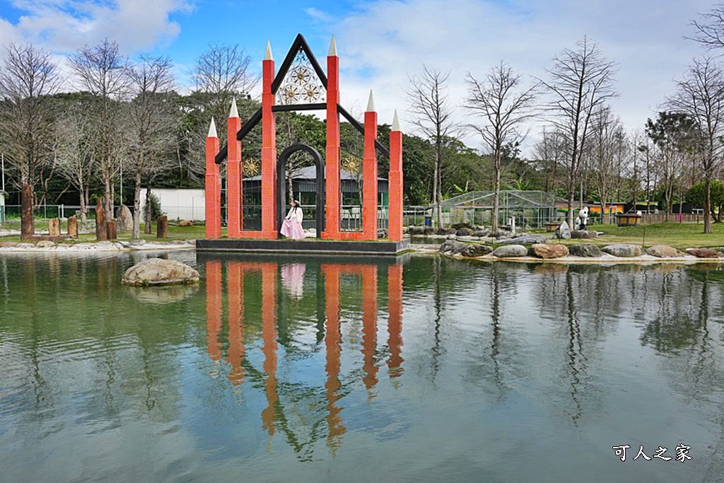
<svg viewBox="0 0 724 483">
<path fill-rule="evenodd" d="M 269 436 L 276 431 L 277 419 L 277 269 L 275 263 L 261 264 L 261 337 L 264 339 L 264 390 L 269 406 L 261 411 L 261 427 L 269 432 Z"/>
</svg>

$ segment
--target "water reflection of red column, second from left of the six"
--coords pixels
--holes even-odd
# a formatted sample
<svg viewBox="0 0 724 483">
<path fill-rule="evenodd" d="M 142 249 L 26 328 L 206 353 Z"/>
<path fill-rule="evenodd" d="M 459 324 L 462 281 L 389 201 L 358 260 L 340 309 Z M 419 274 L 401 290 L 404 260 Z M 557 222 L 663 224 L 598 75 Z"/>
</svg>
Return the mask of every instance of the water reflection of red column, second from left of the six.
<svg viewBox="0 0 724 483">
<path fill-rule="evenodd" d="M 244 273 L 238 261 L 229 262 L 229 351 L 227 361 L 231 364 L 229 380 L 238 386 L 244 382 Z"/>
</svg>

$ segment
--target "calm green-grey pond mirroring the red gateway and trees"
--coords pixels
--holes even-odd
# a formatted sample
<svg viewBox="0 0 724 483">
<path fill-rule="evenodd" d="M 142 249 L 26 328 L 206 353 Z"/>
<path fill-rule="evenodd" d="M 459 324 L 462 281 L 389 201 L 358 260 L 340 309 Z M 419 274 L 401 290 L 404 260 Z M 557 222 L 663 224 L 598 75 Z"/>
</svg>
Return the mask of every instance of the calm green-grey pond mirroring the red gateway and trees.
<svg viewBox="0 0 724 483">
<path fill-rule="evenodd" d="M 724 481 L 717 265 L 146 256 L 0 256 L 0 480 Z"/>
</svg>

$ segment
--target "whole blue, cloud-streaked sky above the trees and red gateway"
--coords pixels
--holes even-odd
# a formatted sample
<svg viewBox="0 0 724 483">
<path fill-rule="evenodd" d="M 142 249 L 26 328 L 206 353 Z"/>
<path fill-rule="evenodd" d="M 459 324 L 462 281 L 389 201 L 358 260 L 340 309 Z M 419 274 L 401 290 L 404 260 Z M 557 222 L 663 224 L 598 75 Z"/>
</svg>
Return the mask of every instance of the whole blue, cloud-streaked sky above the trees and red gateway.
<svg viewBox="0 0 724 483">
<path fill-rule="evenodd" d="M 361 113 L 374 91 L 380 122 L 405 122 L 405 85 L 428 68 L 450 70 L 450 102 L 465 77 L 505 61 L 546 77 L 552 58 L 586 35 L 618 64 L 612 104 L 628 130 L 654 117 L 673 80 L 702 54 L 691 20 L 711 0 L 0 0 L 0 43 L 32 42 L 65 55 L 103 38 L 130 57 L 166 54 L 182 82 L 209 43 L 238 43 L 261 70 L 266 41 L 280 63 L 302 33 L 324 66 L 332 35 L 342 67 L 342 104 Z M 461 122 L 468 114 L 458 109 Z M 542 125 L 531 127 L 531 140 Z M 474 135 L 468 145 L 479 148 Z"/>
</svg>

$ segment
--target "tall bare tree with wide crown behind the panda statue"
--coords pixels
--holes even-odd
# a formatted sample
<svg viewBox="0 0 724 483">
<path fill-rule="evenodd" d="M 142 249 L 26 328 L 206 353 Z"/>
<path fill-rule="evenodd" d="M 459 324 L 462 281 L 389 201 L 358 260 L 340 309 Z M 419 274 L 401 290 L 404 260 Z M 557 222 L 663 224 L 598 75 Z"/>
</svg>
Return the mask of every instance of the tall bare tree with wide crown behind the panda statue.
<svg viewBox="0 0 724 483">
<path fill-rule="evenodd" d="M 615 64 L 602 56 L 598 44 L 584 37 L 578 49 L 564 49 L 546 70 L 550 80 L 541 80 L 550 92 L 546 109 L 551 122 L 565 135 L 568 146 L 568 225 L 573 226 L 573 197 L 581 168 L 581 154 L 589 136 L 594 109 L 617 96 L 613 90 Z"/>
</svg>

